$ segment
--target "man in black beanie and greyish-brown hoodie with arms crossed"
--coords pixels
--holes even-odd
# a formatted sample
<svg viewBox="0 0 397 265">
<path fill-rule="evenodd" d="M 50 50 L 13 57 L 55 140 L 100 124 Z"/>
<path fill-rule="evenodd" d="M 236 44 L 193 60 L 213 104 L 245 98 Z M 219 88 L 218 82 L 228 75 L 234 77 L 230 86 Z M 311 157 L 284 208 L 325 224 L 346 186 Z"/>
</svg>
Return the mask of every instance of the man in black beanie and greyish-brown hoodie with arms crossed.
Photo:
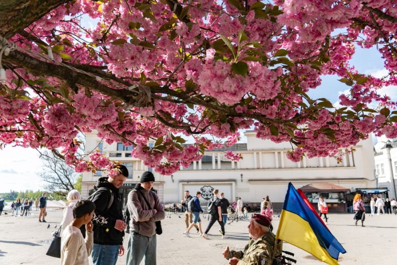
<svg viewBox="0 0 397 265">
<path fill-rule="evenodd" d="M 164 208 L 153 187 L 154 175 L 144 172 L 140 183 L 128 194 L 128 210 L 131 213 L 127 265 L 139 265 L 145 257 L 145 265 L 156 265 L 156 221 L 165 218 Z"/>
</svg>

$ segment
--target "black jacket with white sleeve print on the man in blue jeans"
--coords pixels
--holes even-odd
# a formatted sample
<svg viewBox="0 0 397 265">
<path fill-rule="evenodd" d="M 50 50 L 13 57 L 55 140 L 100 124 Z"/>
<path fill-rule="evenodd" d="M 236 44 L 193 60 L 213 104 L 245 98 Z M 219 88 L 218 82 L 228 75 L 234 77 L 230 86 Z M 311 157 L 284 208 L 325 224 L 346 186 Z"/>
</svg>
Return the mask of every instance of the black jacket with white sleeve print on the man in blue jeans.
<svg viewBox="0 0 397 265">
<path fill-rule="evenodd" d="M 92 223 L 94 224 L 94 243 L 99 245 L 123 245 L 124 231 L 115 229 L 116 220 L 123 220 L 123 198 L 118 188 L 108 182 L 108 177 L 101 177 L 95 186 L 106 187 L 99 190 L 92 198 L 96 209 Z M 108 203 L 113 194 L 113 203 Z"/>
</svg>

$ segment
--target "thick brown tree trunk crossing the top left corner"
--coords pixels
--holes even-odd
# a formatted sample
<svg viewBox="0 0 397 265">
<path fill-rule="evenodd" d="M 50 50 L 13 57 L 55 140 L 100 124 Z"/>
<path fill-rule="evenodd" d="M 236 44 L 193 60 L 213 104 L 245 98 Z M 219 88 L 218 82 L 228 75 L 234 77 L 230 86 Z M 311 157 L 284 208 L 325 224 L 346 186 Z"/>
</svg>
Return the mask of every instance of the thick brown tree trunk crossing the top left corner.
<svg viewBox="0 0 397 265">
<path fill-rule="evenodd" d="M 0 36 L 9 39 L 52 9 L 71 0 L 0 0 Z"/>
</svg>

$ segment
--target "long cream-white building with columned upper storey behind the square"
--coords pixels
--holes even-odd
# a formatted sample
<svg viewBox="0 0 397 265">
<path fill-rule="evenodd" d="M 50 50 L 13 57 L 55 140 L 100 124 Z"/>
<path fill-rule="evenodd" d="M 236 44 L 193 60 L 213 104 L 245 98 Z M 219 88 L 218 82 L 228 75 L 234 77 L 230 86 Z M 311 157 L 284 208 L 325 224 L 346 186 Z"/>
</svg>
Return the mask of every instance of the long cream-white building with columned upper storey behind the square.
<svg viewBox="0 0 397 265">
<path fill-rule="evenodd" d="M 255 137 L 252 131 L 245 132 L 247 144 L 236 144 L 232 148 L 241 153 L 242 161 L 232 162 L 224 157 L 224 152 L 214 150 L 205 152 L 204 157 L 191 166 L 181 168 L 172 176 L 161 176 L 155 172 L 154 189 L 164 203 L 180 202 L 184 191 L 192 194 L 201 190 L 203 199 L 210 196 L 211 188 L 218 188 L 225 193 L 230 201 L 241 197 L 244 203 L 260 203 L 266 195 L 272 201 L 273 207 L 281 208 L 288 182 L 296 187 L 302 187 L 312 182 L 330 182 L 348 189 L 367 188 L 375 186 L 374 152 L 371 139 L 361 141 L 354 153 L 346 153 L 342 163 L 337 164 L 333 158 L 304 158 L 299 163 L 291 162 L 286 153 L 291 149 L 289 143 L 276 144 Z M 100 144 L 95 132 L 86 134 L 85 148 L 87 152 L 97 146 L 105 156 L 125 164 L 130 177 L 122 187 L 126 197 L 133 186 L 139 182 L 145 167 L 142 161 L 131 157 L 131 148 L 121 143 Z M 84 173 L 82 180 L 82 196 L 87 197 L 100 176 Z M 331 201 L 332 202 L 332 201 Z M 336 203 L 338 200 L 335 201 Z"/>
</svg>

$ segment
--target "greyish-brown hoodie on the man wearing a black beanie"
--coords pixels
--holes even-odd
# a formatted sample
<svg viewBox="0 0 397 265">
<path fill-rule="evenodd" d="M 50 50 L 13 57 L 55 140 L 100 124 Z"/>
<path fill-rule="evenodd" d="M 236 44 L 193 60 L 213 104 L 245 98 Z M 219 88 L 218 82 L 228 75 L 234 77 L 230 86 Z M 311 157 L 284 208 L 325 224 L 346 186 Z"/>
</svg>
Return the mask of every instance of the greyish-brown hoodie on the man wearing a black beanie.
<svg viewBox="0 0 397 265">
<path fill-rule="evenodd" d="M 147 202 L 150 204 L 150 208 L 142 196 L 145 196 Z M 165 218 L 164 208 L 161 205 L 157 194 L 152 191 L 147 191 L 140 185 L 140 183 L 138 183 L 128 194 L 127 204 L 130 212 L 132 213 L 130 232 L 136 232 L 147 237 L 154 236 L 156 234 L 155 222 Z M 154 214 L 154 209 L 157 210 L 156 214 Z M 145 222 L 136 222 L 133 216 L 138 220 L 145 220 L 148 218 L 150 218 L 150 220 Z"/>
</svg>

